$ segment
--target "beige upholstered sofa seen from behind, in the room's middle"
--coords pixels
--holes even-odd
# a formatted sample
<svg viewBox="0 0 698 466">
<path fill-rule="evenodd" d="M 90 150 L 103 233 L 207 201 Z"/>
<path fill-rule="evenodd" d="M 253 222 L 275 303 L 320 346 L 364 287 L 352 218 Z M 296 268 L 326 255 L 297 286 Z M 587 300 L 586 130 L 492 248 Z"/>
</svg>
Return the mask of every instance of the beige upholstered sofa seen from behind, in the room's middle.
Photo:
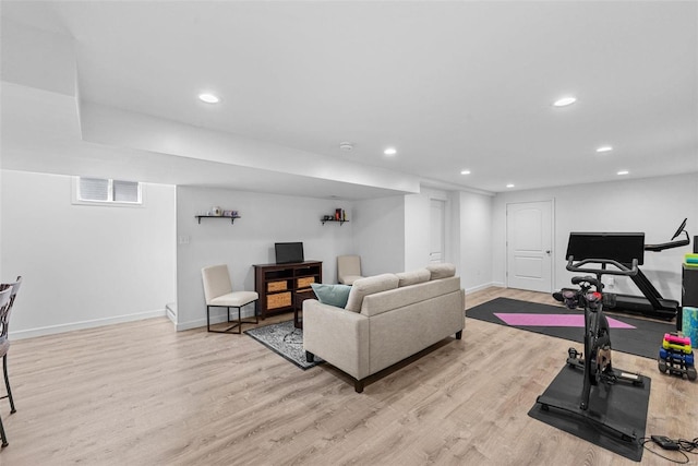
<svg viewBox="0 0 698 466">
<path fill-rule="evenodd" d="M 303 302 L 303 349 L 354 379 L 364 379 L 465 327 L 465 292 L 452 264 L 353 283 L 346 307 Z"/>
</svg>

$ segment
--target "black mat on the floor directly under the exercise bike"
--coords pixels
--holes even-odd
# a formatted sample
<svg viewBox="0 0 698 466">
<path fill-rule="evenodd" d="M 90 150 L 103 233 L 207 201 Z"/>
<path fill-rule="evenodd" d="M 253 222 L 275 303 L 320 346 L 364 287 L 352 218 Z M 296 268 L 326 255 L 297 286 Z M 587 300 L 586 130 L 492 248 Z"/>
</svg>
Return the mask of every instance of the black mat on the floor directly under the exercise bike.
<svg viewBox="0 0 698 466">
<path fill-rule="evenodd" d="M 618 369 L 615 371 L 621 372 Z M 528 415 L 594 445 L 639 462 L 642 459 L 641 440 L 647 425 L 651 385 L 650 378 L 640 377 L 643 386 L 624 382 L 592 386 L 589 409 L 583 411 L 579 409 L 583 371 L 565 365 L 547 390 L 539 396 Z M 547 410 L 543 409 L 543 404 L 550 405 Z M 627 435 L 625 440 L 618 430 Z"/>
</svg>

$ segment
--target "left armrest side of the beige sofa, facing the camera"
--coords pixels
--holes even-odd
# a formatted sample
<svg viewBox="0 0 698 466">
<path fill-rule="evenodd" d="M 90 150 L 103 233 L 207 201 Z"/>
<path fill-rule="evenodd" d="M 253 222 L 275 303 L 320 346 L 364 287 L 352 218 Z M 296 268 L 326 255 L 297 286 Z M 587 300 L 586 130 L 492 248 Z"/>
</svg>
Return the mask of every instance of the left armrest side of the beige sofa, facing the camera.
<svg viewBox="0 0 698 466">
<path fill-rule="evenodd" d="M 369 375 L 369 318 L 315 299 L 303 301 L 303 349 L 357 380 Z"/>
</svg>

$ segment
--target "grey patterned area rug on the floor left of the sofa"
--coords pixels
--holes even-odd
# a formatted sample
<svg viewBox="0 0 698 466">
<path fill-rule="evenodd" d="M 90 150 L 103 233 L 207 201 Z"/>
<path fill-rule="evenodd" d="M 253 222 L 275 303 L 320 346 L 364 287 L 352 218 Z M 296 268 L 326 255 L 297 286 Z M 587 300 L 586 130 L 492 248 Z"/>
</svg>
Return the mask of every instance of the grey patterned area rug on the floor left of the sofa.
<svg viewBox="0 0 698 466">
<path fill-rule="evenodd" d="M 315 360 L 313 362 L 308 362 L 305 360 L 305 351 L 303 350 L 303 330 L 296 328 L 292 320 L 250 328 L 244 331 L 244 333 L 303 370 L 324 362 L 317 356 L 315 356 Z"/>
</svg>

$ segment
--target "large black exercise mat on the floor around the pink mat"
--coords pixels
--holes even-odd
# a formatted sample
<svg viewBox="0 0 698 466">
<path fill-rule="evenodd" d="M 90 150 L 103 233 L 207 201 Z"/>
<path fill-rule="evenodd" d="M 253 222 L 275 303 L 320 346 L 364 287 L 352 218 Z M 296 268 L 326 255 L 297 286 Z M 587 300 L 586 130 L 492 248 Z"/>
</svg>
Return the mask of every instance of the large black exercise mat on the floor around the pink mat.
<svg viewBox="0 0 698 466">
<path fill-rule="evenodd" d="M 500 325 L 507 325 L 494 313 L 551 313 L 551 314 L 581 314 L 583 310 L 567 309 L 559 306 L 539 304 L 509 298 L 496 298 L 466 311 L 466 318 L 478 319 Z M 621 314 L 606 314 L 609 318 L 633 325 L 635 328 L 611 328 L 611 345 L 616 351 L 629 353 L 655 359 L 665 333 L 674 332 L 676 327 L 665 322 L 647 321 Z M 507 325 L 509 326 L 509 325 Z M 583 327 L 555 326 L 514 326 L 529 332 L 583 343 Z"/>
</svg>

